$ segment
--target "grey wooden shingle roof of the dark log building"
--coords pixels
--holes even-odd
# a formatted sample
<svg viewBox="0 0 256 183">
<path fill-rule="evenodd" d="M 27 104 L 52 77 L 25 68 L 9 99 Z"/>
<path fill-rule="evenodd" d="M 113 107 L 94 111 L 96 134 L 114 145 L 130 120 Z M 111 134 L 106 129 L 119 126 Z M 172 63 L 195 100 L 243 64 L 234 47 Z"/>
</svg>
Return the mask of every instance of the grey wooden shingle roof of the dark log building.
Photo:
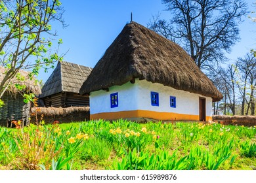
<svg viewBox="0 0 256 183">
<path fill-rule="evenodd" d="M 81 85 L 91 73 L 91 70 L 91 67 L 59 61 L 53 73 L 45 82 L 40 98 L 60 92 L 79 93 Z"/>
</svg>

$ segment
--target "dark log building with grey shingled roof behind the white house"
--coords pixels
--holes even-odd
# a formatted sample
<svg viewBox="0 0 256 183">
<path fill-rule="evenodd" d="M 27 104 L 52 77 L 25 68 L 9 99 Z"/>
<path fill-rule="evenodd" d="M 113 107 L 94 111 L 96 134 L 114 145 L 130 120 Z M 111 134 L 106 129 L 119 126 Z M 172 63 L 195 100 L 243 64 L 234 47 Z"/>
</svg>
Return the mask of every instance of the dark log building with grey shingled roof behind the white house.
<svg viewBox="0 0 256 183">
<path fill-rule="evenodd" d="M 89 106 L 89 96 L 79 95 L 79 89 L 90 73 L 90 67 L 59 61 L 39 96 L 45 107 Z"/>
</svg>

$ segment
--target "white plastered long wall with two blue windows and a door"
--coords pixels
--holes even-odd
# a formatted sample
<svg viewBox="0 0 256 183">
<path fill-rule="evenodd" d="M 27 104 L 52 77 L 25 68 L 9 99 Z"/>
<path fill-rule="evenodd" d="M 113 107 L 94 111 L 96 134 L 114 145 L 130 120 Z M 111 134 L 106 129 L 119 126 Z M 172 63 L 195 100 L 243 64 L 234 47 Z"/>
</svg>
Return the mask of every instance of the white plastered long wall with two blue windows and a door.
<svg viewBox="0 0 256 183">
<path fill-rule="evenodd" d="M 146 80 L 140 80 L 137 88 L 138 96 L 140 98 L 140 103 L 138 104 L 139 109 L 199 115 L 199 97 L 203 97 L 205 98 L 206 116 L 211 116 L 211 97 L 176 90 L 169 86 L 163 86 L 163 84 L 152 83 Z M 150 92 L 159 93 L 159 107 L 151 105 Z M 145 95 L 145 93 L 147 94 Z M 176 108 L 170 107 L 170 96 L 176 97 Z"/>
</svg>

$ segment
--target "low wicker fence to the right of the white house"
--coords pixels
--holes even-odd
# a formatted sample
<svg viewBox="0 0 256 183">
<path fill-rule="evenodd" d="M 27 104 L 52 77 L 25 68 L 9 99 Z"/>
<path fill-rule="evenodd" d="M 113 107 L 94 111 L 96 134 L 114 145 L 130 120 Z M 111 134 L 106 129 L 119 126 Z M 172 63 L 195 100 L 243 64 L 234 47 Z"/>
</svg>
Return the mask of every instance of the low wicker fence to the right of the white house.
<svg viewBox="0 0 256 183">
<path fill-rule="evenodd" d="M 219 122 L 224 125 L 245 125 L 254 126 L 256 125 L 256 116 L 224 116 L 224 115 L 213 115 L 213 121 Z"/>
</svg>

